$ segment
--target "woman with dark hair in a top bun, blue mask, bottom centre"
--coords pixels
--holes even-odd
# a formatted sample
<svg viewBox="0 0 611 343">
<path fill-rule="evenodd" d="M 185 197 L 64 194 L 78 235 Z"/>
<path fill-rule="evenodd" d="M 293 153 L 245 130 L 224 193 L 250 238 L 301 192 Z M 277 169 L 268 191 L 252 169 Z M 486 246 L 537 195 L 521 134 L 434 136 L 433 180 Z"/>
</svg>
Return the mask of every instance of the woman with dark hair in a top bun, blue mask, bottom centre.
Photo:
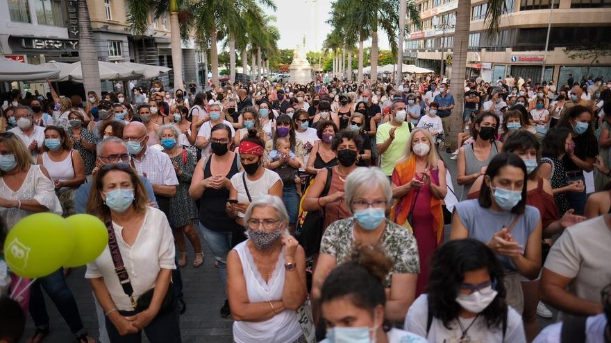
<svg viewBox="0 0 611 343">
<path fill-rule="evenodd" d="M 321 290 L 321 314 L 327 326 L 322 343 L 427 342 L 387 326 L 383 281 L 391 267 L 392 261 L 380 249 L 358 245 L 349 261 L 330 272 Z"/>
</svg>

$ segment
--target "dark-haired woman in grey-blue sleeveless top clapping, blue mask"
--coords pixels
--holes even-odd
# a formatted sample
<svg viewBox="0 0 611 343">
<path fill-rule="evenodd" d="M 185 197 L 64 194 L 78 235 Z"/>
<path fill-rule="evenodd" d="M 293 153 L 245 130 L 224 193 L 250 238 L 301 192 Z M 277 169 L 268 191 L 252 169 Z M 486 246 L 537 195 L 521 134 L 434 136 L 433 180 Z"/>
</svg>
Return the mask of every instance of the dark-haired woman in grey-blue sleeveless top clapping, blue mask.
<svg viewBox="0 0 611 343">
<path fill-rule="evenodd" d="M 507 302 L 522 313 L 520 277 L 535 279 L 541 269 L 541 216 L 526 205 L 528 172 L 517 155 L 502 152 L 490 161 L 478 200 L 456 204 L 451 239 L 475 238 L 497 255 L 505 271 Z"/>
</svg>

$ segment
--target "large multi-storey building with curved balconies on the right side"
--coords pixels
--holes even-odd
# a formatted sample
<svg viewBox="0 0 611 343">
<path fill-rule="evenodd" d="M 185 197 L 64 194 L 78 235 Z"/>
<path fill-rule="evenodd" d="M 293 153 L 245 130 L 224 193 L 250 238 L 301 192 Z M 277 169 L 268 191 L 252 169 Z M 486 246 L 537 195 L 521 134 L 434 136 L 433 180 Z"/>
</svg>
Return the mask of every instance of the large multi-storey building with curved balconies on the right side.
<svg viewBox="0 0 611 343">
<path fill-rule="evenodd" d="M 417 0 L 421 29 L 411 26 L 403 48 L 405 62 L 450 75 L 458 1 Z M 553 4 L 553 5 L 552 5 Z M 553 8 L 552 8 L 553 7 Z M 611 46 L 611 0 L 505 0 L 499 35 L 486 33 L 487 1 L 471 0 L 471 26 L 466 77 L 492 82 L 506 75 L 567 82 L 582 76 L 611 80 L 611 55 L 601 50 L 592 58 L 576 58 L 574 51 Z M 545 53 L 548 24 L 549 47 Z M 606 34 L 605 34 L 606 33 Z M 442 57 L 443 56 L 443 57 Z"/>
</svg>

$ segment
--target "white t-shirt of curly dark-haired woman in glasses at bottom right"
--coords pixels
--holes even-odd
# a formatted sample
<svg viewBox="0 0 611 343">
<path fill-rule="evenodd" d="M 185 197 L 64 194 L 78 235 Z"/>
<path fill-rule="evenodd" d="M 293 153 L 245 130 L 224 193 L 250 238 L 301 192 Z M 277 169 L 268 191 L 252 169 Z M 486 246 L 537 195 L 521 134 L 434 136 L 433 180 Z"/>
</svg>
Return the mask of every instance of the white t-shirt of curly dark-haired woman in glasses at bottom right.
<svg viewBox="0 0 611 343">
<path fill-rule="evenodd" d="M 405 316 L 404 328 L 410 333 L 425 337 L 428 342 L 432 343 L 458 343 L 462 330 L 458 323 L 454 320 L 450 323 L 451 330 L 444 326 L 444 323 L 437 318 L 433 318 L 430 324 L 430 330 L 426 335 L 426 319 L 428 317 L 428 301 L 427 294 L 421 294 L 414 304 L 410 306 L 408 315 Z M 471 325 L 474 319 L 459 318 L 462 327 L 467 328 Z M 501 325 L 499 328 L 489 329 L 484 317 L 477 317 L 476 323 L 469 328 L 469 337 L 471 343 L 526 343 L 524 335 L 524 325 L 522 317 L 513 308 L 508 308 L 507 316 L 507 331 L 505 331 L 505 340 L 503 340 L 503 330 Z"/>
</svg>

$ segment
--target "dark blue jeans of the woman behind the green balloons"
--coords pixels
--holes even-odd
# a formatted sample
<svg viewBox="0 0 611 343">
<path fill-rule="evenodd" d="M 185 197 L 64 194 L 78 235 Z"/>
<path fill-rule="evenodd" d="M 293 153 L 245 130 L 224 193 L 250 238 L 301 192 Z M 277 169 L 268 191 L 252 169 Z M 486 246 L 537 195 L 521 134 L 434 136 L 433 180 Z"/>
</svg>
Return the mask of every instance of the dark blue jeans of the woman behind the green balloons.
<svg viewBox="0 0 611 343">
<path fill-rule="evenodd" d="M 64 320 L 70 327 L 70 331 L 74 335 L 84 333 L 85 329 L 83 328 L 81 315 L 78 313 L 76 300 L 74 300 L 74 295 L 68 288 L 62 268 L 37 279 L 31 285 L 28 308 L 36 328 L 49 328 L 49 313 L 47 313 L 47 306 L 44 304 L 41 286 L 44 288 L 44 292 L 47 292 L 59 313 L 64 317 Z"/>
</svg>

